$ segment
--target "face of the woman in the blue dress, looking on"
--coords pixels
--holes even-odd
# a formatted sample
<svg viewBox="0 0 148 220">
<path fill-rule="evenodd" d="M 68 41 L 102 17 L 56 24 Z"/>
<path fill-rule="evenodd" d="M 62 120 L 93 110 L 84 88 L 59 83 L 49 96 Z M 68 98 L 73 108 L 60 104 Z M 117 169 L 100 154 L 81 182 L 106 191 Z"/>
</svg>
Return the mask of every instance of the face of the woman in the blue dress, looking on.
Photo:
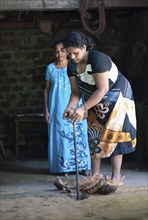
<svg viewBox="0 0 148 220">
<path fill-rule="evenodd" d="M 64 61 L 67 59 L 67 51 L 64 48 L 63 44 L 57 44 L 55 46 L 55 56 L 57 58 L 58 61 Z"/>
</svg>

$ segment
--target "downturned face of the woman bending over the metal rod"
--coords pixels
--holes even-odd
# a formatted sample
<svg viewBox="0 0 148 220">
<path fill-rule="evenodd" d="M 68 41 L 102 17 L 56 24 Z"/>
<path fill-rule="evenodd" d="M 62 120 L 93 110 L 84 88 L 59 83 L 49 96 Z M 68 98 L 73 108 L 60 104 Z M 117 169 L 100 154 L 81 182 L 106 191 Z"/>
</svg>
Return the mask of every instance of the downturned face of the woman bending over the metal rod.
<svg viewBox="0 0 148 220">
<path fill-rule="evenodd" d="M 74 63 L 79 63 L 85 57 L 86 46 L 84 45 L 81 48 L 78 48 L 78 47 L 67 47 L 66 50 L 67 50 L 69 58 L 71 60 L 73 60 Z"/>
</svg>

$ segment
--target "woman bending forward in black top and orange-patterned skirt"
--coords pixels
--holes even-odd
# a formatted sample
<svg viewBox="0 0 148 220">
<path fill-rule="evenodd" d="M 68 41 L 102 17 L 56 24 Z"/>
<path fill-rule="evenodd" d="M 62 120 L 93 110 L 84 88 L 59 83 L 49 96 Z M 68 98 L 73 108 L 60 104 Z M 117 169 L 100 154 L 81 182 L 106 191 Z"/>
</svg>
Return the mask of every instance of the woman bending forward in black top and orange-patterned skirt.
<svg viewBox="0 0 148 220">
<path fill-rule="evenodd" d="M 70 57 L 67 72 L 72 93 L 63 117 L 67 118 L 83 95 L 85 103 L 74 109 L 72 120 L 82 120 L 88 111 L 92 177 L 102 179 L 101 158 L 111 157 L 112 174 L 105 176 L 103 188 L 104 192 L 115 191 L 123 185 L 123 154 L 135 151 L 136 146 L 131 86 L 108 55 L 93 49 L 91 38 L 70 32 L 64 44 Z M 81 187 L 86 184 L 92 184 L 92 178 L 82 181 Z"/>
</svg>

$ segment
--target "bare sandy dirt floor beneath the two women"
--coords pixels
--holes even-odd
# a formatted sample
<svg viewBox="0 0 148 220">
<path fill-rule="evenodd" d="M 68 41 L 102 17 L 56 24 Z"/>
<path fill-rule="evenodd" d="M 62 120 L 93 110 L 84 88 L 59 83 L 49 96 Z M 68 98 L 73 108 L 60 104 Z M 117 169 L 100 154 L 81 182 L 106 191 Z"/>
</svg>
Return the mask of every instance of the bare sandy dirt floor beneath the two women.
<svg viewBox="0 0 148 220">
<path fill-rule="evenodd" d="M 53 185 L 47 161 L 2 160 L 0 220 L 147 220 L 148 173 L 135 165 L 122 169 L 124 186 L 110 195 L 76 200 Z M 110 165 L 102 166 L 110 174 Z M 82 176 L 79 175 L 79 178 Z M 70 175 L 71 182 L 75 174 Z"/>
</svg>

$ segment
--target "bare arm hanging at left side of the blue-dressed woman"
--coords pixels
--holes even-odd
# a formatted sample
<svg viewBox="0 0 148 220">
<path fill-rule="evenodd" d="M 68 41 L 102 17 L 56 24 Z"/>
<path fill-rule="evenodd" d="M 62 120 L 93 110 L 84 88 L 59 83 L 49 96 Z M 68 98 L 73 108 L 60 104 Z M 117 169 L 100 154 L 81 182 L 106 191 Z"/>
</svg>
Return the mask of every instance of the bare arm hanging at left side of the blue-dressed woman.
<svg viewBox="0 0 148 220">
<path fill-rule="evenodd" d="M 45 89 L 44 89 L 44 117 L 47 124 L 50 123 L 50 114 L 48 110 L 48 97 L 50 92 L 50 81 L 46 81 Z"/>
</svg>

